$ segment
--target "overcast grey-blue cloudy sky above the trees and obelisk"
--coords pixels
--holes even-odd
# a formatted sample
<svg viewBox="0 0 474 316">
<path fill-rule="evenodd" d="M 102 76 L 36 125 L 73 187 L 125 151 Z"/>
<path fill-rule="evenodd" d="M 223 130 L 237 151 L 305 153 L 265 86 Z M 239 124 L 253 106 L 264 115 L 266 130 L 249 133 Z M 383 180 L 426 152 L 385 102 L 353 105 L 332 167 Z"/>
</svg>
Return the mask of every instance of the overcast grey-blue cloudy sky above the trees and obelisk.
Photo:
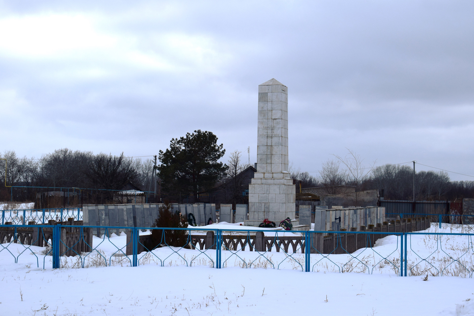
<svg viewBox="0 0 474 316">
<path fill-rule="evenodd" d="M 296 169 L 349 148 L 474 175 L 473 16 L 472 1 L 1 1 L 0 150 L 145 156 L 201 129 L 254 163 L 257 86 L 275 78 Z"/>
</svg>

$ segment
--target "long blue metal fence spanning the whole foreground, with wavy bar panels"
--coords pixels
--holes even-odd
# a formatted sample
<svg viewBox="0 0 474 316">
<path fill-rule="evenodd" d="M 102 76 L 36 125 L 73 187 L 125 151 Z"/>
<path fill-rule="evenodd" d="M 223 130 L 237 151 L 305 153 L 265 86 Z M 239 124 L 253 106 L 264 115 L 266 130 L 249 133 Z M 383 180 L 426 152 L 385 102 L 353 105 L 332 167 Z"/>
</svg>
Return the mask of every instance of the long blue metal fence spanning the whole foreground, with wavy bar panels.
<svg viewBox="0 0 474 316">
<path fill-rule="evenodd" d="M 261 230 L 237 230 L 237 229 L 206 229 L 206 228 L 156 228 L 156 227 L 116 227 L 116 226 L 64 226 L 64 225 L 35 225 L 38 235 L 27 235 L 25 228 L 27 225 L 2 225 L 0 226 L 3 235 L 0 235 L 0 255 L 5 252 L 12 256 L 14 263 L 19 263 L 19 257 L 23 254 L 33 254 L 36 257 L 36 266 L 40 267 L 39 256 L 43 255 L 43 269 L 49 266 L 62 268 L 68 266 L 67 260 L 74 259 L 68 267 L 85 268 L 93 265 L 112 266 L 126 265 L 137 267 L 146 264 L 150 260 L 155 261 L 160 266 L 164 266 L 171 258 L 178 258 L 186 266 L 196 265 L 198 260 L 204 260 L 205 264 L 212 268 L 225 268 L 229 262 L 235 260 L 235 266 L 252 268 L 264 266 L 273 269 L 282 269 L 282 265 L 291 262 L 292 269 L 301 271 L 318 271 L 320 262 L 327 262 L 333 267 L 333 271 L 349 272 L 355 271 L 353 268 L 359 267 L 359 272 L 372 274 L 379 266 L 388 266 L 399 276 L 420 275 L 429 273 L 431 275 L 464 275 L 472 277 L 474 264 L 472 258 L 473 240 L 471 233 L 393 233 L 393 232 L 324 232 L 324 231 L 261 231 Z M 91 234 L 89 228 L 104 229 L 105 234 L 101 237 L 94 237 L 94 244 L 87 234 Z M 125 244 L 116 245 L 111 242 L 110 229 L 126 228 L 129 233 Z M 6 230 L 5 230 L 6 229 Z M 8 231 L 9 230 L 9 231 Z M 142 231 L 149 230 L 151 234 Z M 178 242 L 173 240 L 173 232 L 186 231 L 186 239 Z M 5 233 L 7 231 L 7 233 Z M 66 231 L 75 232 L 76 239 L 66 241 Z M 69 233 L 71 234 L 71 233 Z M 74 235 L 71 234 L 71 235 Z M 141 235 L 140 235 L 141 234 Z M 196 235 L 198 234 L 198 235 Z M 291 234 L 292 236 L 285 236 Z M 324 244 L 323 235 L 331 235 L 331 244 Z M 374 247 L 375 240 L 392 235 L 392 249 L 382 253 L 382 248 Z M 419 251 L 413 249 L 412 239 L 416 235 L 424 235 L 424 239 L 431 240 L 431 245 Z M 456 247 L 447 247 L 449 239 L 447 236 L 459 236 Z M 150 239 L 155 238 L 155 244 L 150 243 Z M 38 253 L 39 247 L 32 246 L 37 238 L 46 241 L 42 254 Z M 5 243 L 4 238 L 10 238 Z M 27 239 L 30 238 L 30 239 Z M 443 239 L 444 238 L 444 239 Z M 115 248 L 104 253 L 100 245 L 109 241 Z M 201 241 L 202 240 L 202 241 Z M 328 239 L 326 239 L 327 241 Z M 459 246 L 459 240 L 463 243 Z M 14 242 L 12 242 L 14 241 Z M 413 241 L 415 242 L 415 241 Z M 85 244 L 88 251 L 78 250 L 78 244 Z M 97 243 L 97 244 L 96 244 Z M 179 244 L 182 246 L 179 246 Z M 351 243 L 358 243 L 357 251 L 349 251 Z M 419 246 L 419 241 L 417 241 Z M 15 245 L 16 244 L 16 245 Z M 191 257 L 186 257 L 186 252 L 194 251 Z M 426 241 L 425 241 L 426 245 Z M 436 245 L 436 248 L 435 248 Z M 109 247 L 111 247 L 109 245 Z M 290 249 L 292 247 L 292 249 Z M 41 248 L 41 249 L 43 249 Z M 163 248 L 157 251 L 158 248 Z M 199 249 L 200 248 L 200 249 Z M 248 251 L 247 251 L 248 249 Z M 291 251 L 292 250 L 292 251 Z M 280 253 L 275 261 L 272 256 Z M 364 253 L 369 254 L 371 262 L 365 259 Z M 70 256 L 66 256 L 69 254 Z M 38 256 L 39 255 L 39 256 Z M 73 255 L 74 257 L 71 257 Z M 188 253 L 189 255 L 189 253 Z M 372 257 L 371 257 L 372 256 Z M 436 257 L 438 256 L 438 258 Z M 9 257 L 7 255 L 7 257 Z M 5 257 L 0 257 L 5 260 Z M 31 258 L 31 257 L 29 257 Z M 399 258 L 399 259 L 398 259 Z M 441 258 L 441 259 L 439 259 Z M 174 260 L 175 260 L 174 259 Z M 278 262 L 278 260 L 280 260 Z M 441 263 L 440 263 L 441 262 Z M 438 264 L 438 267 L 435 266 Z M 441 265 L 440 265 L 441 264 Z M 456 274 L 457 273 L 457 274 Z"/>
</svg>

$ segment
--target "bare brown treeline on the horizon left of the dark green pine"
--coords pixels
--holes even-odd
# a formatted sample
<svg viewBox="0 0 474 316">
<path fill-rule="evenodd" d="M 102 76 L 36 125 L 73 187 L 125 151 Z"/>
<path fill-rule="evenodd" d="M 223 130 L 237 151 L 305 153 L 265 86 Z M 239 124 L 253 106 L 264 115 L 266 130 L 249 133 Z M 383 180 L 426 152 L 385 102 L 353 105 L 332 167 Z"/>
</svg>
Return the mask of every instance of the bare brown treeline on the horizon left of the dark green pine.
<svg viewBox="0 0 474 316">
<path fill-rule="evenodd" d="M 7 159 L 7 185 L 120 190 L 131 181 L 139 189 L 148 191 L 152 181 L 151 159 L 142 161 L 125 157 L 123 153 L 116 156 L 64 148 L 39 159 L 20 158 L 14 151 L 0 154 L 0 158 Z M 0 178 L 5 181 L 5 160 L 0 160 Z M 14 190 L 13 199 L 34 200 L 36 192 L 42 191 L 46 189 L 18 188 Z M 10 188 L 1 185 L 0 200 L 9 200 L 10 192 Z"/>
</svg>

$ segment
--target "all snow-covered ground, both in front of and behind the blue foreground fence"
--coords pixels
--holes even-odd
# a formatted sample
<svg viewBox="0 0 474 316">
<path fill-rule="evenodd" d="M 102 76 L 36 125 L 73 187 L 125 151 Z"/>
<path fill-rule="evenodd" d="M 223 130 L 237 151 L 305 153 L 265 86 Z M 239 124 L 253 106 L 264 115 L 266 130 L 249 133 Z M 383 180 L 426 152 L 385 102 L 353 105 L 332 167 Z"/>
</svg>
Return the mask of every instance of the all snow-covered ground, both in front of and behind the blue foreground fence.
<svg viewBox="0 0 474 316">
<path fill-rule="evenodd" d="M 472 228 L 433 225 L 425 232 L 472 233 Z M 299 233 L 265 232 L 269 234 Z M 63 257 L 65 268 L 52 270 L 45 248 L 30 251 L 9 244 L 9 252 L 0 252 L 0 315 L 474 316 L 474 280 L 469 278 L 474 270 L 472 239 L 423 234 L 408 241 L 411 277 L 397 276 L 396 236 L 351 255 L 312 254 L 314 272 L 301 271 L 301 253 L 288 257 L 273 251 L 262 256 L 238 248 L 222 251 L 222 269 L 210 268 L 215 250 L 169 247 L 141 253 L 140 266 L 129 267 L 128 257 L 118 251 L 125 252 L 123 233 L 93 238 L 98 252 L 85 258 L 89 268 L 74 269 L 81 266 L 77 257 Z M 106 261 L 112 266 L 105 267 Z M 272 269 L 278 265 L 280 270 Z M 242 269 L 246 267 L 255 269 Z M 447 276 L 437 273 L 443 269 Z"/>
</svg>

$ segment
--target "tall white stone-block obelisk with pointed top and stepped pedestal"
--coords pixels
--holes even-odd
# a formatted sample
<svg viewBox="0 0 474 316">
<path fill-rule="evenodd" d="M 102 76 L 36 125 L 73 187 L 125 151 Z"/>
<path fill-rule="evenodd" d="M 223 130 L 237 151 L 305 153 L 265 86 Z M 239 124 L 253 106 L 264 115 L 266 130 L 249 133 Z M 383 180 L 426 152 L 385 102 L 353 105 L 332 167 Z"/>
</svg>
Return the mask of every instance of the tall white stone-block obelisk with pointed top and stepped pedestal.
<svg viewBox="0 0 474 316">
<path fill-rule="evenodd" d="M 258 86 L 257 172 L 248 195 L 245 225 L 268 218 L 278 226 L 295 218 L 295 186 L 288 172 L 288 88 L 275 79 Z"/>
</svg>

